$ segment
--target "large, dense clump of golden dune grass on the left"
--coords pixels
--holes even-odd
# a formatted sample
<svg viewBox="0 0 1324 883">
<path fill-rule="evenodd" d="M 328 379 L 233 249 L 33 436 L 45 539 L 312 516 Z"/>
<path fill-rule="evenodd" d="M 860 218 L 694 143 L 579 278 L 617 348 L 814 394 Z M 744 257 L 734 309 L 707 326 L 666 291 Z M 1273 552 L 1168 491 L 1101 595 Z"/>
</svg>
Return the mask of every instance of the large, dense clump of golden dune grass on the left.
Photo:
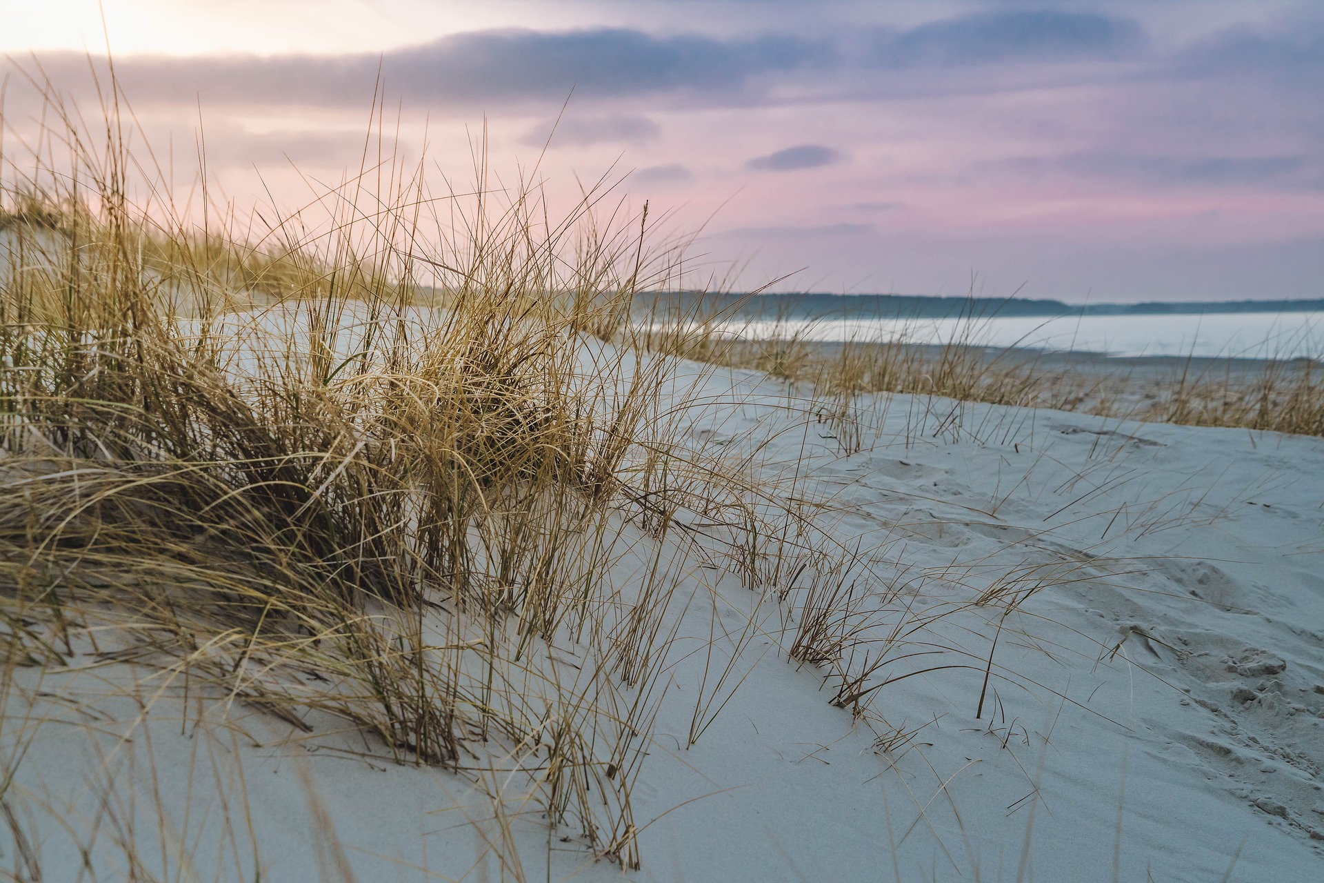
<svg viewBox="0 0 1324 883">
<path fill-rule="evenodd" d="M 98 140 L 48 101 L 36 143 L 69 162 L 5 156 L 0 192 L 7 678 L 128 661 L 401 763 L 519 769 L 637 866 L 665 635 L 632 624 L 674 580 L 613 568 L 630 518 L 666 531 L 670 368 L 592 335 L 654 271 L 646 213 L 604 225 L 600 188 L 551 222 L 482 165 L 438 196 L 381 156 L 320 218 L 199 229 L 113 106 Z"/>
</svg>

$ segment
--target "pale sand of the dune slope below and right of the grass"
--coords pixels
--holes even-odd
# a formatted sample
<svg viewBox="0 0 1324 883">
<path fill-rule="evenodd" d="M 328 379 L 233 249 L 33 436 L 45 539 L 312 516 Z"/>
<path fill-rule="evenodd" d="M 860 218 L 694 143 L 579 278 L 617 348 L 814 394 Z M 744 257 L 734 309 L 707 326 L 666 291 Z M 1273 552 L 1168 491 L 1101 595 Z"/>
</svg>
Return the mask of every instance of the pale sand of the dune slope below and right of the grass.
<svg viewBox="0 0 1324 883">
<path fill-rule="evenodd" d="M 683 417 L 696 443 L 761 443 L 765 477 L 798 469 L 796 492 L 824 502 L 821 524 L 861 540 L 894 582 L 892 600 L 861 614 L 862 638 L 894 638 L 873 683 L 894 682 L 873 712 L 923 728 L 875 748 L 879 723 L 853 721 L 829 704 L 824 671 L 788 663 L 776 598 L 755 605 L 733 577 L 710 577 L 732 634 L 751 616 L 761 627 L 722 698 L 743 678 L 739 688 L 685 749 L 704 669 L 703 653 L 687 654 L 712 620 L 695 585 L 633 793 L 646 825 L 637 879 L 1324 879 L 1324 842 L 1312 839 L 1324 838 L 1324 440 L 878 396 L 862 410 L 865 450 L 842 455 L 780 384 L 723 372 L 702 389 L 715 404 Z M 1001 621 L 976 720 L 1001 610 L 969 602 L 998 580 L 1042 588 Z M 910 630 L 895 634 L 898 624 Z M 716 670 L 730 643 L 719 637 Z M 326 732 L 331 720 L 311 720 L 307 737 L 242 704 L 229 710 L 242 732 L 183 727 L 173 695 L 147 725 L 115 695 L 139 679 L 130 666 L 79 662 L 19 673 L 48 694 L 33 699 L 41 715 L 79 725 L 45 724 L 16 788 L 105 825 L 101 845 L 139 842 L 155 874 L 253 879 L 260 863 L 262 879 L 342 879 L 343 855 L 365 882 L 520 879 L 483 858 L 499 826 L 461 776 L 368 763 L 347 753 L 367 743 Z M 940 666 L 960 667 L 896 680 Z M 11 720 L 23 702 L 9 698 Z M 135 724 L 118 749 L 90 735 Z M 113 749 L 109 763 L 98 755 Z M 102 769 L 119 770 L 105 793 L 136 806 L 98 822 L 89 782 Z M 508 809 L 524 879 L 621 875 L 561 842 L 573 831 L 551 833 L 535 806 Z M 58 826 L 29 812 L 45 833 L 44 849 L 30 845 L 45 879 L 79 879 Z M 134 813 L 136 830 L 106 821 Z M 17 860 L 11 843 L 5 854 Z M 82 879 L 122 879 L 102 871 Z"/>
</svg>

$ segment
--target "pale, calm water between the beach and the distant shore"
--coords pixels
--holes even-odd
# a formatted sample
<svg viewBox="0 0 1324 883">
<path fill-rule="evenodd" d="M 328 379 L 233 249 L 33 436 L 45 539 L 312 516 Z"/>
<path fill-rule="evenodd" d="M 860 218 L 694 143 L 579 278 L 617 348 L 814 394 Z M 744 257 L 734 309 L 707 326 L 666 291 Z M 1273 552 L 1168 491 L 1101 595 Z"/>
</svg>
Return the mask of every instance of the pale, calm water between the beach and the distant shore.
<svg viewBox="0 0 1324 883">
<path fill-rule="evenodd" d="M 796 319 L 728 322 L 719 328 L 745 339 L 965 342 L 988 347 L 1033 347 L 1107 352 L 1115 356 L 1237 356 L 1295 359 L 1324 356 L 1324 312 L 1233 312 L 1217 315 L 1129 315 L 960 319 Z"/>
</svg>

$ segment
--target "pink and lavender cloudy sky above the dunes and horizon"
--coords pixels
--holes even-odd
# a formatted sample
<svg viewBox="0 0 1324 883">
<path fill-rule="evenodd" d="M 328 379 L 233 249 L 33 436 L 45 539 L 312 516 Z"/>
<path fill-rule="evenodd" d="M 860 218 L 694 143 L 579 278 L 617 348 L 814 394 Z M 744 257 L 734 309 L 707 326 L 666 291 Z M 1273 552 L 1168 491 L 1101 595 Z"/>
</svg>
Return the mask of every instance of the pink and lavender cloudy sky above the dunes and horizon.
<svg viewBox="0 0 1324 883">
<path fill-rule="evenodd" d="M 695 259 L 737 289 L 1324 297 L 1313 0 L 103 11 L 0 0 L 0 52 L 86 103 L 85 53 L 109 37 L 154 144 L 195 155 L 201 119 L 208 175 L 236 203 L 298 204 L 308 180 L 357 168 L 380 71 L 402 155 L 462 180 L 486 131 L 493 168 L 536 163 L 567 197 L 624 175 L 632 205 L 702 229 Z M 20 86 L 15 131 L 36 114 Z"/>
</svg>

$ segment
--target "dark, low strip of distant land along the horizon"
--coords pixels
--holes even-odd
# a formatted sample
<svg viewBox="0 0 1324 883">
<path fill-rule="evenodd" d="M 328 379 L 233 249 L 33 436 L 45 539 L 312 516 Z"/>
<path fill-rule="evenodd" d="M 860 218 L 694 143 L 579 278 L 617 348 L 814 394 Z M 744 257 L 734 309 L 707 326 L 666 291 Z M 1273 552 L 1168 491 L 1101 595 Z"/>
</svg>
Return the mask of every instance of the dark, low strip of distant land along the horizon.
<svg viewBox="0 0 1324 883">
<path fill-rule="evenodd" d="M 922 294 L 736 294 L 643 291 L 637 316 L 732 319 L 951 319 L 993 316 L 1124 316 L 1218 312 L 1324 312 L 1324 298 L 1276 301 L 1148 301 L 1068 304 L 1031 298 Z"/>
</svg>

